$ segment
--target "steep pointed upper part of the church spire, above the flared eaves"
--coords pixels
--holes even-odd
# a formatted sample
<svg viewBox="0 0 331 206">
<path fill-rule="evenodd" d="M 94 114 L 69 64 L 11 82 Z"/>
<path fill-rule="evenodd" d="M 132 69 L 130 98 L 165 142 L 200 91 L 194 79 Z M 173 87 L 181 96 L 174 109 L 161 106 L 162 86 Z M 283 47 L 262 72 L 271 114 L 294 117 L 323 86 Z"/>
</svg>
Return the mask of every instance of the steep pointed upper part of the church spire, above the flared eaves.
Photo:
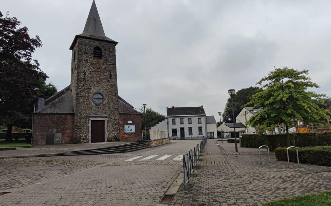
<svg viewBox="0 0 331 206">
<path fill-rule="evenodd" d="M 96 37 L 105 36 L 105 32 L 102 27 L 100 16 L 98 13 L 97 6 L 93 0 L 90 13 L 88 14 L 83 34 L 93 35 Z"/>
</svg>

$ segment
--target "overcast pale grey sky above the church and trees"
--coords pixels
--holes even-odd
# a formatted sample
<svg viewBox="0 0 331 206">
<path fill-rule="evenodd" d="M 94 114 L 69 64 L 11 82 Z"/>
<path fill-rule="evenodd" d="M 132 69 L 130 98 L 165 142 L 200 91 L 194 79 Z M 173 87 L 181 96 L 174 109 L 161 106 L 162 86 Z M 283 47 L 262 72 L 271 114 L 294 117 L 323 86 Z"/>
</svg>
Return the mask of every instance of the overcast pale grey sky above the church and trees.
<svg viewBox="0 0 331 206">
<path fill-rule="evenodd" d="M 33 55 L 58 90 L 70 84 L 71 45 L 92 0 L 2 1 L 43 46 Z M 309 70 L 331 96 L 331 1 L 102 1 L 116 46 L 118 94 L 166 114 L 166 106 L 223 111 L 228 89 L 255 86 L 273 67 Z"/>
</svg>

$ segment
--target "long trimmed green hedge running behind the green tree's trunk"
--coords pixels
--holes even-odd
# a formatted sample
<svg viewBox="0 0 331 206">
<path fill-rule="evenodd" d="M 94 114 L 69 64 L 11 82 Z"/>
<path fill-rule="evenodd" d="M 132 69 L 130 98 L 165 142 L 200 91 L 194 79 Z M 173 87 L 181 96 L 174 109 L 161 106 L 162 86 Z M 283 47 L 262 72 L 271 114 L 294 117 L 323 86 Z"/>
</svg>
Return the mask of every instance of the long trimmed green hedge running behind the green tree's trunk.
<svg viewBox="0 0 331 206">
<path fill-rule="evenodd" d="M 267 145 L 270 151 L 287 147 L 286 134 L 243 134 L 241 140 L 243 147 Z M 331 132 L 290 133 L 290 144 L 296 147 L 328 146 L 331 145 Z"/>
</svg>

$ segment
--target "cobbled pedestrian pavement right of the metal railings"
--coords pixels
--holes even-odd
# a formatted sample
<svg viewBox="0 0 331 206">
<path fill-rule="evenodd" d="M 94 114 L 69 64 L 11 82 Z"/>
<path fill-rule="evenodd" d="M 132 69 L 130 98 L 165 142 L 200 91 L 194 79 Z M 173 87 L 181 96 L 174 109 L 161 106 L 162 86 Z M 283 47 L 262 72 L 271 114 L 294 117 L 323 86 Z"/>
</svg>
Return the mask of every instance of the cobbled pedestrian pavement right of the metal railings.
<svg viewBox="0 0 331 206">
<path fill-rule="evenodd" d="M 216 143 L 222 146 L 218 141 L 207 142 L 199 161 L 224 161 L 226 164 L 197 166 L 186 191 L 181 185 L 171 205 L 188 201 L 210 201 L 222 206 L 257 205 L 331 190 L 330 167 L 300 164 L 298 168 L 291 163 L 288 168 L 287 162 L 276 161 L 274 154 L 270 154 L 271 163 L 267 163 L 267 155 L 261 155 L 261 165 L 254 150 L 235 153 L 223 148 L 224 152 L 220 152 Z"/>
</svg>

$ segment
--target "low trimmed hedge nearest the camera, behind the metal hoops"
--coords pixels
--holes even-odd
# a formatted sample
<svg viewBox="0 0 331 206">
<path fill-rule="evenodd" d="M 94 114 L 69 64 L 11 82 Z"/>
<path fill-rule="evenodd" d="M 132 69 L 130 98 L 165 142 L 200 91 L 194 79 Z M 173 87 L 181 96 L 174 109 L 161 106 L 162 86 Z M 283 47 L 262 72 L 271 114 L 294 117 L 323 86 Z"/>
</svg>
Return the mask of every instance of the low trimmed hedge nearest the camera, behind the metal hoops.
<svg viewBox="0 0 331 206">
<path fill-rule="evenodd" d="M 299 147 L 299 162 L 316 164 L 321 166 L 331 166 L 331 146 Z M 287 161 L 285 147 L 275 149 L 277 160 Z M 297 153 L 295 148 L 289 149 L 290 162 L 297 162 Z"/>
</svg>

